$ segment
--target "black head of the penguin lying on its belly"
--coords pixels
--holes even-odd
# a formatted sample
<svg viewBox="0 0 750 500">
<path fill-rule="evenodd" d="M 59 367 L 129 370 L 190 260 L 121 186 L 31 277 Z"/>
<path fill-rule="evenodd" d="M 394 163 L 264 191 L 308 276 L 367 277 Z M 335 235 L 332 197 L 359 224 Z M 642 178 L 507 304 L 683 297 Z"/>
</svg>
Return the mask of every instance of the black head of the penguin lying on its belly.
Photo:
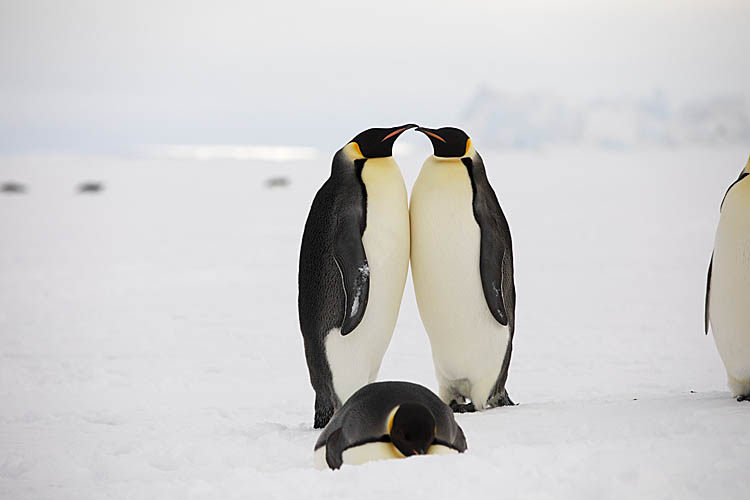
<svg viewBox="0 0 750 500">
<path fill-rule="evenodd" d="M 435 439 L 435 417 L 418 403 L 404 403 L 393 416 L 391 441 L 404 456 L 424 455 Z"/>
</svg>

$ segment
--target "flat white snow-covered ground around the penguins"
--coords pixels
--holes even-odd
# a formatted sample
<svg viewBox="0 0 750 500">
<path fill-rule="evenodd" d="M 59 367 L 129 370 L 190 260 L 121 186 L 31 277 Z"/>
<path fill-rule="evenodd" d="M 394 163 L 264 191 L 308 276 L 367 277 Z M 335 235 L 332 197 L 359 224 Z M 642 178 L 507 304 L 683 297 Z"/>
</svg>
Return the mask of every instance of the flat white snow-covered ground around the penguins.
<svg viewBox="0 0 750 500">
<path fill-rule="evenodd" d="M 28 186 L 0 193 L 0 498 L 748 498 L 750 404 L 702 328 L 750 151 L 478 147 L 514 236 L 519 405 L 457 416 L 464 455 L 336 472 L 312 466 L 296 315 L 328 158 L 0 159 Z M 407 185 L 426 154 L 397 156 Z M 380 378 L 436 389 L 410 284 Z"/>
</svg>

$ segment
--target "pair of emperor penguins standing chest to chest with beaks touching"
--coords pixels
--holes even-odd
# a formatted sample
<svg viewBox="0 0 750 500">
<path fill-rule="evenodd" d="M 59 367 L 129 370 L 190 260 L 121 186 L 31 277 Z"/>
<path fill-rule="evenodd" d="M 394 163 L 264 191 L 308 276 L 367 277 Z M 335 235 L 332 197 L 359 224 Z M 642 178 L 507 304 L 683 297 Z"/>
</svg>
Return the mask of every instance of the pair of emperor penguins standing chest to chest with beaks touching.
<svg viewBox="0 0 750 500">
<path fill-rule="evenodd" d="M 411 209 L 393 143 L 432 142 Z M 313 200 L 299 266 L 299 319 L 315 428 L 373 382 L 398 318 L 411 257 L 440 398 L 454 411 L 512 404 L 515 325 L 510 230 L 482 158 L 461 130 L 366 130 L 333 158 Z"/>
</svg>

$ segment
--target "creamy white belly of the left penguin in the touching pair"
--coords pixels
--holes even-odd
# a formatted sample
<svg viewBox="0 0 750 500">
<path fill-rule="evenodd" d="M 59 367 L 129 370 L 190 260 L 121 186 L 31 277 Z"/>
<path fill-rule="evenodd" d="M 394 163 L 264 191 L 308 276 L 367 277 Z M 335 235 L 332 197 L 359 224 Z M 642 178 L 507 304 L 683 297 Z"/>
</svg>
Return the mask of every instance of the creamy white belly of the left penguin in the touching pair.
<svg viewBox="0 0 750 500">
<path fill-rule="evenodd" d="M 393 158 L 367 160 L 362 170 L 367 190 L 367 225 L 362 243 L 370 268 L 367 308 L 348 335 L 326 337 L 333 387 L 343 404 L 375 380 L 393 336 L 409 269 L 409 209 L 406 186 Z"/>
</svg>

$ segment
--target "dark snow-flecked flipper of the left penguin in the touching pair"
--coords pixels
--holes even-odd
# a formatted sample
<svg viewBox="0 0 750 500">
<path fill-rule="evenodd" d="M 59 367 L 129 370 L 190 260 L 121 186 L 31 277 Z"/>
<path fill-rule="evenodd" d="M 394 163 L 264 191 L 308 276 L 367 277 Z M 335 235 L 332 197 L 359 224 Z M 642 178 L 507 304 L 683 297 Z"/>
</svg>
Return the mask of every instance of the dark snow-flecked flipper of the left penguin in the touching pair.
<svg viewBox="0 0 750 500">
<path fill-rule="evenodd" d="M 361 227 L 358 217 L 340 217 L 336 228 L 334 258 L 346 297 L 341 335 L 348 335 L 362 321 L 370 294 L 370 268 Z"/>
</svg>

